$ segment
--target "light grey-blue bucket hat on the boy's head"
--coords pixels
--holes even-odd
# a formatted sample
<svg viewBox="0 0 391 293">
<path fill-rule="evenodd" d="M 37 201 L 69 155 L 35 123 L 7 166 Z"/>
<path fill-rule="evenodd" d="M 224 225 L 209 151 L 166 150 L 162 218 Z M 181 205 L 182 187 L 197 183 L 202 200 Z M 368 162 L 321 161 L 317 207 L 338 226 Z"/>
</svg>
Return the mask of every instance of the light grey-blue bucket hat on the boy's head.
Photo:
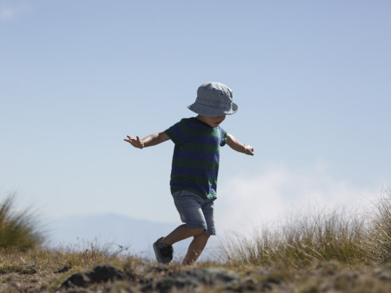
<svg viewBox="0 0 391 293">
<path fill-rule="evenodd" d="M 220 82 L 207 82 L 198 87 L 195 103 L 188 108 L 204 116 L 230 115 L 237 112 L 233 91 Z"/>
</svg>

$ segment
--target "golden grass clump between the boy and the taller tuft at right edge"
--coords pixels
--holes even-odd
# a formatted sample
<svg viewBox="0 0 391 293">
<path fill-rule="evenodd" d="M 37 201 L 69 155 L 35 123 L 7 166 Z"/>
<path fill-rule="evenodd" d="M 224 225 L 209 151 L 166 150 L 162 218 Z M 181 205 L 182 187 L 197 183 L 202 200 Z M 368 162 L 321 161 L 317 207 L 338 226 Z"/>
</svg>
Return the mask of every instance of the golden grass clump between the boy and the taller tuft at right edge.
<svg viewBox="0 0 391 293">
<path fill-rule="evenodd" d="M 341 209 L 296 216 L 253 236 L 235 235 L 221 250 L 223 260 L 231 266 L 281 263 L 304 267 L 329 260 L 357 264 L 367 259 L 363 239 L 364 221 Z"/>
</svg>

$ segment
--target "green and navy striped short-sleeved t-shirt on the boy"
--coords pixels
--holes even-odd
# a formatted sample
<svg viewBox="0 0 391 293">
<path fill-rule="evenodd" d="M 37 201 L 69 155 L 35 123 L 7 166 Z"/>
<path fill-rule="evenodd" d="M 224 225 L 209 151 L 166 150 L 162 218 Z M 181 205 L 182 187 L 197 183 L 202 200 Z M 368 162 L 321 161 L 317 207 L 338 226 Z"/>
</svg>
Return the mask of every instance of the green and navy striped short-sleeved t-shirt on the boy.
<svg viewBox="0 0 391 293">
<path fill-rule="evenodd" d="M 188 190 L 203 198 L 216 198 L 220 147 L 227 142 L 226 131 L 195 118 L 185 118 L 165 133 L 175 143 L 171 193 Z"/>
</svg>

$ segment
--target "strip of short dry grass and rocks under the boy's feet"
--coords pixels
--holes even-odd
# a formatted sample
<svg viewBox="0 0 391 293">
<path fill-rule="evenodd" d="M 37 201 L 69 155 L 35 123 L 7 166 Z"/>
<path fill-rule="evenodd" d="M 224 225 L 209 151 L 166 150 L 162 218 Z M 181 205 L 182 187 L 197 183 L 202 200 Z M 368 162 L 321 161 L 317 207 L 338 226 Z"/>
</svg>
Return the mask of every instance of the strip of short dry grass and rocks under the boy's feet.
<svg viewBox="0 0 391 293">
<path fill-rule="evenodd" d="M 390 292 L 391 265 L 303 267 L 199 262 L 163 265 L 128 255 L 2 250 L 1 292 Z M 110 266 L 108 266 L 110 264 Z M 99 272 L 101 274 L 99 275 Z"/>
</svg>

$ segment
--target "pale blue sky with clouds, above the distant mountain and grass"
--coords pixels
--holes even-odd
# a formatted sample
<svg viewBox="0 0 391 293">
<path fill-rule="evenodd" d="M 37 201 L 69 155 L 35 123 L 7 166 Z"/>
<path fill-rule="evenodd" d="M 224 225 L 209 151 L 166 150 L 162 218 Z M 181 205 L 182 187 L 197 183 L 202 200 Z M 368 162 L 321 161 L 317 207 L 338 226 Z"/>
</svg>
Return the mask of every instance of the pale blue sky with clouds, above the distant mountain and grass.
<svg viewBox="0 0 391 293">
<path fill-rule="evenodd" d="M 222 151 L 221 227 L 373 200 L 391 186 L 390 13 L 390 1 L 0 0 L 1 194 L 45 216 L 178 221 L 172 142 L 123 138 L 193 116 L 198 86 L 217 81 L 239 105 L 223 128 L 256 153 Z"/>
</svg>

